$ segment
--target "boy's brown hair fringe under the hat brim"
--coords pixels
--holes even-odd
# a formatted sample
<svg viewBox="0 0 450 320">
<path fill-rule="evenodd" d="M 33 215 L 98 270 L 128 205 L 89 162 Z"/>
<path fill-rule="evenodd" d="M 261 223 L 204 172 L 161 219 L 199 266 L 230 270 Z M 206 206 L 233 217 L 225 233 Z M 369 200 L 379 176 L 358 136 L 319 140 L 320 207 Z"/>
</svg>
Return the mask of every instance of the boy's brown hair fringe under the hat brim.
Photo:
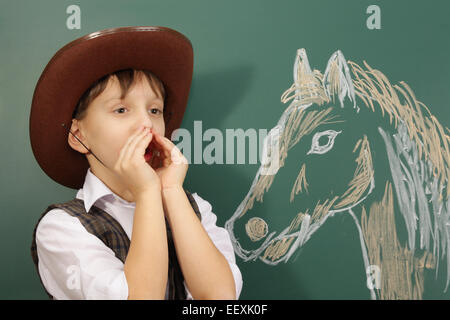
<svg viewBox="0 0 450 320">
<path fill-rule="evenodd" d="M 75 110 L 73 111 L 72 118 L 77 120 L 83 120 L 86 117 L 89 104 L 105 90 L 109 79 L 114 76 L 116 76 L 117 79 L 119 80 L 121 89 L 121 96 L 120 96 L 121 99 L 123 99 L 126 96 L 131 85 L 136 80 L 141 80 L 143 79 L 143 77 L 145 77 L 148 83 L 150 84 L 152 90 L 165 102 L 166 92 L 164 89 L 164 85 L 161 82 L 161 80 L 159 80 L 159 78 L 156 75 L 154 75 L 151 71 L 122 69 L 107 74 L 98 79 L 97 81 L 95 81 L 81 96 L 80 100 L 77 103 L 77 106 L 75 107 Z M 164 108 L 164 111 L 166 111 L 166 108 Z M 166 112 L 164 112 L 164 120 L 166 123 L 170 120 L 170 115 L 169 117 L 166 117 Z"/>
</svg>

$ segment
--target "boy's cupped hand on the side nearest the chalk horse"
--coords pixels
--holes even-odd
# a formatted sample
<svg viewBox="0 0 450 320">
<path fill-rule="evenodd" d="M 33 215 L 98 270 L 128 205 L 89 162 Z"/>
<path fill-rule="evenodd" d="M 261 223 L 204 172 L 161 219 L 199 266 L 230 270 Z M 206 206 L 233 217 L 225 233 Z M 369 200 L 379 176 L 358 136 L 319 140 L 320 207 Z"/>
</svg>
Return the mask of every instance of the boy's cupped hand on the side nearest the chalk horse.
<svg viewBox="0 0 450 320">
<path fill-rule="evenodd" d="M 161 190 L 182 187 L 188 169 L 188 161 L 180 149 L 166 137 L 154 133 L 154 139 L 160 155 L 154 157 L 152 166 L 157 168 L 156 173 L 161 181 Z"/>
</svg>

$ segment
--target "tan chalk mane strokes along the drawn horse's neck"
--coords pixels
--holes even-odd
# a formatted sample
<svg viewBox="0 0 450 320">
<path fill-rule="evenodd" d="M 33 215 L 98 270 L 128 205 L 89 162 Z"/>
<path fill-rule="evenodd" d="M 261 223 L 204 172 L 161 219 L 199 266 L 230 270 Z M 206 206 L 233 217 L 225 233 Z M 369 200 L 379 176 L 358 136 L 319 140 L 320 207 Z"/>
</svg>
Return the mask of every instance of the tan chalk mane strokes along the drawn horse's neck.
<svg viewBox="0 0 450 320">
<path fill-rule="evenodd" d="M 383 73 L 372 69 L 365 61 L 367 70 L 354 62 L 349 64 L 355 76 L 355 93 L 372 111 L 375 111 L 372 100 L 378 102 L 382 115 L 387 114 L 395 128 L 400 121 L 405 124 L 409 138 L 416 144 L 419 158 L 423 156 L 425 161 L 432 163 L 432 173 L 438 179 L 441 200 L 447 199 L 450 196 L 450 137 L 443 126 L 427 106 L 416 99 L 405 82 L 392 86 Z"/>
</svg>

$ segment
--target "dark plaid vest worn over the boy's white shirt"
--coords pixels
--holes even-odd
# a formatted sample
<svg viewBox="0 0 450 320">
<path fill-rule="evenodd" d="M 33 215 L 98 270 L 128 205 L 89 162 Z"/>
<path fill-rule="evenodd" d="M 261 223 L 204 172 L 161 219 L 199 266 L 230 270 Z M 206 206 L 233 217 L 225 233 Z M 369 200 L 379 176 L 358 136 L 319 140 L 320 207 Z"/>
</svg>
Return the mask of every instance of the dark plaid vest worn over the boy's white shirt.
<svg viewBox="0 0 450 320">
<path fill-rule="evenodd" d="M 195 214 L 201 220 L 200 210 L 198 209 L 197 203 L 195 202 L 192 194 L 184 190 Z M 92 206 L 89 213 L 86 213 L 84 208 L 84 201 L 81 199 L 73 199 L 64 203 L 52 204 L 47 207 L 45 212 L 41 215 L 33 231 L 33 239 L 31 244 L 31 257 L 35 264 L 36 270 L 39 275 L 42 286 L 44 286 L 42 279 L 39 274 L 39 259 L 37 255 L 36 248 L 36 229 L 39 225 L 41 219 L 52 209 L 59 208 L 70 214 L 72 217 L 78 218 L 84 228 L 97 238 L 99 238 L 106 246 L 108 246 L 112 251 L 114 251 L 117 258 L 119 258 L 123 263 L 127 257 L 128 249 L 130 247 L 130 239 L 123 230 L 122 226 L 115 220 L 110 214 L 104 210 Z M 167 245 L 169 249 L 169 299 L 170 300 L 185 300 L 186 291 L 184 288 L 184 278 L 181 272 L 180 265 L 178 263 L 177 255 L 175 252 L 175 246 L 172 239 L 172 233 L 169 228 L 169 224 L 166 220 L 166 233 L 167 233 Z M 45 287 L 44 287 L 45 290 Z M 50 299 L 53 297 L 47 290 L 45 290 Z"/>
</svg>

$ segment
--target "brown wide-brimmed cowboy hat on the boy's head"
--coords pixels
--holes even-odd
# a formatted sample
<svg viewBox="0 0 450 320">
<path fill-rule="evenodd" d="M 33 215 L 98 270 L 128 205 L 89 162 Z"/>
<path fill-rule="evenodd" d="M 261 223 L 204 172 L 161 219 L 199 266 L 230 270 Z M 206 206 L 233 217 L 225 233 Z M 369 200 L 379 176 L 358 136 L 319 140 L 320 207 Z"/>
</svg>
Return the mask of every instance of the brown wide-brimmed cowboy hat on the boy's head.
<svg viewBox="0 0 450 320">
<path fill-rule="evenodd" d="M 128 68 L 149 70 L 163 82 L 164 113 L 171 115 L 166 123 L 166 137 L 170 139 L 172 131 L 179 128 L 192 81 L 193 50 L 189 39 L 175 30 L 151 26 L 88 34 L 56 52 L 34 91 L 31 148 L 50 178 L 73 189 L 83 186 L 89 163 L 67 143 L 72 113 L 94 81 Z"/>
</svg>

